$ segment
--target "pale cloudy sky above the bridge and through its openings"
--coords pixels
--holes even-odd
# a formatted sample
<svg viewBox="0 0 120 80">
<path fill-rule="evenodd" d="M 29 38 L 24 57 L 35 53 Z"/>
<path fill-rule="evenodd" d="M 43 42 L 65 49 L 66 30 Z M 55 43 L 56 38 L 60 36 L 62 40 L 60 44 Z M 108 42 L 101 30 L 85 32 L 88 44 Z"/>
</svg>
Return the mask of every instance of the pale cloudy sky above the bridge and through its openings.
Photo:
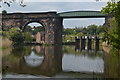
<svg viewBox="0 0 120 80">
<path fill-rule="evenodd" d="M 74 1 L 74 0 L 73 0 Z M 16 12 L 48 12 L 48 11 L 56 11 L 67 12 L 67 11 L 100 11 L 102 7 L 107 5 L 107 2 L 35 2 L 27 1 L 24 2 L 26 7 L 19 6 L 18 2 L 12 3 L 10 7 L 3 4 L 2 10 L 7 10 L 9 13 Z M 64 19 L 63 25 L 64 28 L 74 28 L 74 27 L 85 27 L 88 25 L 96 24 L 103 25 L 105 22 L 104 18 L 75 18 L 75 19 Z M 31 24 L 32 26 L 37 26 L 38 24 Z"/>
</svg>

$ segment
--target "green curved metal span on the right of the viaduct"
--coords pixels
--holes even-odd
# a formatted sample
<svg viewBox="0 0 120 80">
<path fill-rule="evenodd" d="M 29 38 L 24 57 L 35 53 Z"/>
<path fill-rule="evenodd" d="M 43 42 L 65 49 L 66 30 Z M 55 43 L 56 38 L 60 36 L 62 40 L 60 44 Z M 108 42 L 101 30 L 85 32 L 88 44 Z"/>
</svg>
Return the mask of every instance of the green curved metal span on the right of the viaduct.
<svg viewBox="0 0 120 80">
<path fill-rule="evenodd" d="M 61 18 L 104 18 L 106 15 L 100 11 L 70 11 L 58 13 Z"/>
</svg>

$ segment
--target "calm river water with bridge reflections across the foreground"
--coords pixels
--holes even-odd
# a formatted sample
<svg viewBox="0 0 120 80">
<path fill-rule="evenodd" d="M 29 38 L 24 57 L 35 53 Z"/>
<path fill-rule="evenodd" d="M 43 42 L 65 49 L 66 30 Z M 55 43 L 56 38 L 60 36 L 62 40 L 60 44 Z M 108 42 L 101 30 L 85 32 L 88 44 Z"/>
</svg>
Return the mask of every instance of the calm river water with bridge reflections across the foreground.
<svg viewBox="0 0 120 80">
<path fill-rule="evenodd" d="M 76 46 L 22 46 L 3 50 L 3 78 L 120 78 L 120 55 Z"/>
</svg>

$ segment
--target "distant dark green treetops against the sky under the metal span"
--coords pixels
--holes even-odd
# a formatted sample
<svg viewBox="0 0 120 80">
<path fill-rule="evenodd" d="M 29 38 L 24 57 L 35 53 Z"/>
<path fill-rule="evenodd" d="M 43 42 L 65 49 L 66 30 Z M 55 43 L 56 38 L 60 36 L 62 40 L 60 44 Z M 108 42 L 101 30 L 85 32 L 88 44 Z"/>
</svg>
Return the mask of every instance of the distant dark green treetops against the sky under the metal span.
<svg viewBox="0 0 120 80">
<path fill-rule="evenodd" d="M 78 33 L 82 33 L 84 35 L 93 35 L 93 34 L 100 34 L 104 32 L 103 26 L 97 25 L 89 25 L 88 27 L 80 27 L 80 28 L 66 28 L 63 30 L 63 35 L 70 35 L 74 34 L 77 35 Z"/>
</svg>

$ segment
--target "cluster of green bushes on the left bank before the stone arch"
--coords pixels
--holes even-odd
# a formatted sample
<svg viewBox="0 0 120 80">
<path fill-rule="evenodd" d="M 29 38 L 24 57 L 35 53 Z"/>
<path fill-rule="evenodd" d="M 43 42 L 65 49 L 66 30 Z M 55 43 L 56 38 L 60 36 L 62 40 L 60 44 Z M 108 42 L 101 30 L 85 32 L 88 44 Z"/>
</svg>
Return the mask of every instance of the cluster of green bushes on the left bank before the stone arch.
<svg viewBox="0 0 120 80">
<path fill-rule="evenodd" d="M 12 45 L 22 45 L 25 41 L 33 40 L 30 33 L 22 32 L 18 27 L 11 28 L 9 31 L 2 31 L 2 36 L 12 42 Z M 5 41 L 3 40 L 2 42 L 4 43 Z"/>
</svg>

